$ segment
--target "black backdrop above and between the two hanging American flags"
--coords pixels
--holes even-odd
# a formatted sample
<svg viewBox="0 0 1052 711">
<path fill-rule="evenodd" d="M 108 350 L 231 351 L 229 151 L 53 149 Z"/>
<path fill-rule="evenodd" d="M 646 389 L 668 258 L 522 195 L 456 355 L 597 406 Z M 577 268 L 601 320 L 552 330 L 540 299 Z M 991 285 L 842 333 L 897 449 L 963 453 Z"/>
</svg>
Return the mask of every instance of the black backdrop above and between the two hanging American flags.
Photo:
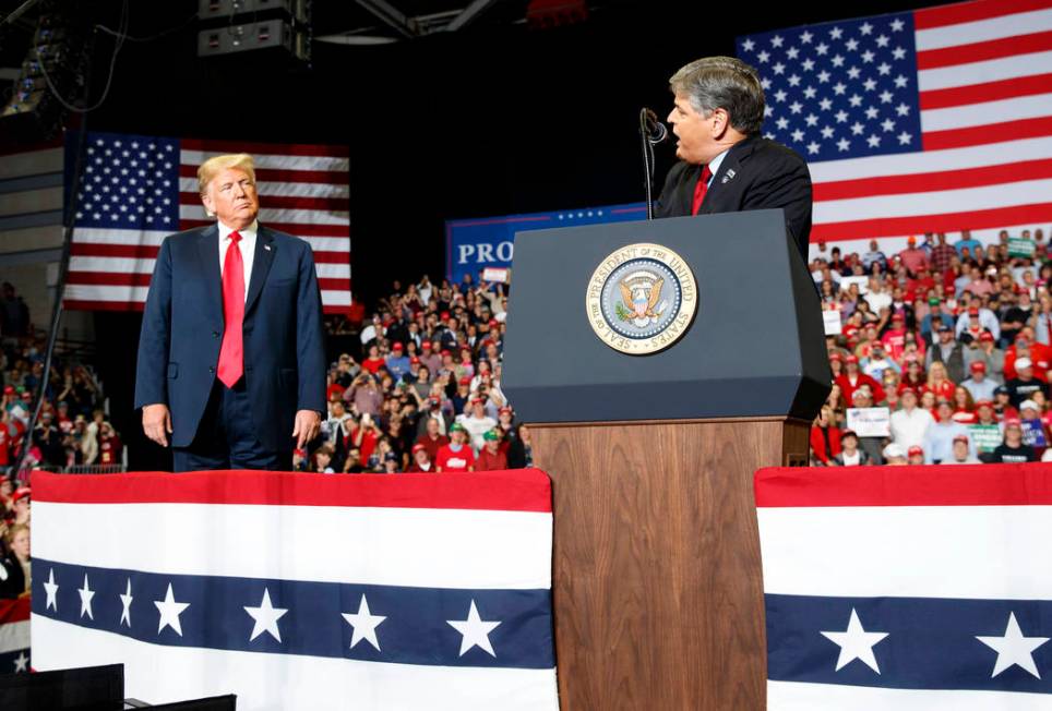
<svg viewBox="0 0 1052 711">
<path fill-rule="evenodd" d="M 667 115 L 667 80 L 683 63 L 733 55 L 740 34 L 920 4 L 936 3 L 613 3 L 547 31 L 479 23 L 379 47 L 318 43 L 309 70 L 250 56 L 199 60 L 191 23 L 124 45 L 89 128 L 348 145 L 354 291 L 371 304 L 394 279 L 441 277 L 445 219 L 642 200 L 636 115 Z M 195 7 L 133 2 L 131 33 L 179 25 Z M 98 22 L 116 26 L 111 10 Z M 98 44 L 96 87 L 110 47 Z M 96 315 L 112 420 L 132 468 L 144 469 L 165 459 L 131 410 L 139 325 L 138 315 Z"/>
</svg>

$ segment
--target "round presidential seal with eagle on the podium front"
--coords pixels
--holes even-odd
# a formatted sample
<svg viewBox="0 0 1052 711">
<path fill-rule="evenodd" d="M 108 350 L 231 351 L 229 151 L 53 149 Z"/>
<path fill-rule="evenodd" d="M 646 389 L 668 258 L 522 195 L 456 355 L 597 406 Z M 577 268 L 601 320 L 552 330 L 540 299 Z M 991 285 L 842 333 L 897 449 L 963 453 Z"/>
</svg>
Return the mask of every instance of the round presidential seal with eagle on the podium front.
<svg viewBox="0 0 1052 711">
<path fill-rule="evenodd" d="M 683 258 L 660 244 L 629 244 L 605 258 L 585 299 L 591 329 L 610 348 L 645 356 L 686 333 L 697 284 Z"/>
</svg>

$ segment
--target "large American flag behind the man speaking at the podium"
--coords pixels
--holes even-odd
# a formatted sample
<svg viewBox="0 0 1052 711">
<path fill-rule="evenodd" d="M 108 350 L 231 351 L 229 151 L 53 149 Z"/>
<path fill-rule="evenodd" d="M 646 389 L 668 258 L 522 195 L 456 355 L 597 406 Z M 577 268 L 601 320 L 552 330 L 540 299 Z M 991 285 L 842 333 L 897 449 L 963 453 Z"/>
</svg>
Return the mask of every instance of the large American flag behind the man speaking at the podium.
<svg viewBox="0 0 1052 711">
<path fill-rule="evenodd" d="M 748 35 L 764 133 L 803 155 L 811 241 L 1052 220 L 1052 1 Z"/>
</svg>

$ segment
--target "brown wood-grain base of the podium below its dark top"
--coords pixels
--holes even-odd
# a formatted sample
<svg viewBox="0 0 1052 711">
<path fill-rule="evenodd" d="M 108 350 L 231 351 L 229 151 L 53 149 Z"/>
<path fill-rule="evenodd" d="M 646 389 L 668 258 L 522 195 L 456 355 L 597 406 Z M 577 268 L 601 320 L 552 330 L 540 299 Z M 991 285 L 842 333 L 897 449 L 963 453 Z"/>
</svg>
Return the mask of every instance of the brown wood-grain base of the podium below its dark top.
<svg viewBox="0 0 1052 711">
<path fill-rule="evenodd" d="M 752 472 L 808 456 L 785 418 L 535 425 L 554 492 L 563 711 L 762 710 Z"/>
</svg>

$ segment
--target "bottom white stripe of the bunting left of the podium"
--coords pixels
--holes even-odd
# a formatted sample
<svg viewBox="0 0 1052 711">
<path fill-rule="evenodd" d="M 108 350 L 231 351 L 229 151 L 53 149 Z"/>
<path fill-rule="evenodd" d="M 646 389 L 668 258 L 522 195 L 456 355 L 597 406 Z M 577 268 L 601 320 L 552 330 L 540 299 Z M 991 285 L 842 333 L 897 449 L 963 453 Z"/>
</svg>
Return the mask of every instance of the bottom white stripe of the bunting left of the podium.
<svg viewBox="0 0 1052 711">
<path fill-rule="evenodd" d="M 190 675 L 198 696 L 229 694 L 231 680 L 237 679 L 238 708 L 250 710 L 559 709 L 554 670 L 414 666 L 297 655 L 234 654 L 147 644 L 84 628 L 76 628 L 76 643 L 70 642 L 69 625 L 43 615 L 33 616 L 35 668 L 71 668 L 121 660 L 124 695 L 157 703 L 184 700 Z M 359 647 L 367 643 L 359 642 Z M 201 670 L 214 670 L 215 674 L 204 677 Z M 208 686 L 202 687 L 205 680 Z"/>
</svg>

